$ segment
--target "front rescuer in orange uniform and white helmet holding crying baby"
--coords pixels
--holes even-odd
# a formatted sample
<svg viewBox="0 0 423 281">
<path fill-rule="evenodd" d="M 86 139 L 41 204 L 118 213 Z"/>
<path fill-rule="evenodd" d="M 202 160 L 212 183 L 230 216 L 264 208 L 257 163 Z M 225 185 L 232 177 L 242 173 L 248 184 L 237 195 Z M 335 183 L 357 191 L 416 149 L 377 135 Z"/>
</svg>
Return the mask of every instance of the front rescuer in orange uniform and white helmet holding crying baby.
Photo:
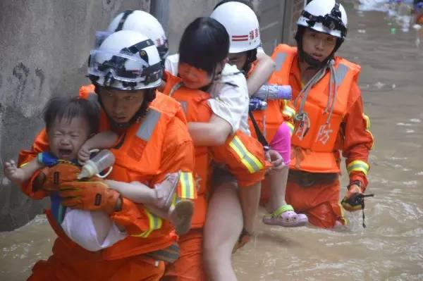
<svg viewBox="0 0 423 281">
<path fill-rule="evenodd" d="M 91 51 L 89 64 L 97 94 L 87 95 L 82 90 L 80 95 L 99 100 L 100 131 L 112 130 L 120 135 L 111 149 L 116 162 L 109 178 L 154 187 L 168 173 L 179 171 L 178 194 L 194 199 L 192 140 L 178 102 L 155 90 L 161 82 L 161 60 L 152 40 L 137 32 L 116 32 Z M 43 130 L 30 151 L 21 151 L 19 162 L 30 161 L 48 146 Z M 46 182 L 55 180 L 48 168 L 36 173 L 22 187 L 33 199 L 51 192 L 39 181 L 41 174 Z M 178 256 L 171 224 L 109 189 L 102 180 L 66 180 L 71 182 L 59 180 L 54 190 L 61 194 L 64 206 L 104 211 L 128 237 L 102 251 L 87 251 L 66 237 L 47 210 L 58 238 L 53 255 L 35 264 L 29 280 L 159 280 L 164 274 L 164 261 L 158 256 L 166 249 Z"/>
</svg>

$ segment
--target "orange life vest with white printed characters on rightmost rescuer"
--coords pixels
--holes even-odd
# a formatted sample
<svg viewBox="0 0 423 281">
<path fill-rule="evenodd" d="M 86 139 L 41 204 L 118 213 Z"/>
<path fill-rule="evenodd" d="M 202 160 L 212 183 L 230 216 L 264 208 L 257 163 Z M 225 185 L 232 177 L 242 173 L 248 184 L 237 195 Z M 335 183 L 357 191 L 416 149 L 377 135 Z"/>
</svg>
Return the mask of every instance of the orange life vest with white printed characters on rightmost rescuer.
<svg viewBox="0 0 423 281">
<path fill-rule="evenodd" d="M 298 56 L 297 49 L 285 44 L 276 46 L 274 61 L 276 62 L 275 79 L 280 85 L 289 82 L 290 69 L 294 58 Z M 339 151 L 336 142 L 341 130 L 341 123 L 347 111 L 348 96 L 353 84 L 357 81 L 360 66 L 350 63 L 344 58 L 335 58 L 335 75 L 337 80 L 336 102 L 331 118 L 325 111 L 329 99 L 329 71 L 314 85 L 307 96 L 303 111 L 309 117 L 309 129 L 295 122 L 295 129 L 291 139 L 290 168 L 305 170 L 311 173 L 338 173 L 340 171 Z M 293 100 L 299 93 L 293 93 Z M 293 104 L 298 112 L 300 102 Z"/>
</svg>

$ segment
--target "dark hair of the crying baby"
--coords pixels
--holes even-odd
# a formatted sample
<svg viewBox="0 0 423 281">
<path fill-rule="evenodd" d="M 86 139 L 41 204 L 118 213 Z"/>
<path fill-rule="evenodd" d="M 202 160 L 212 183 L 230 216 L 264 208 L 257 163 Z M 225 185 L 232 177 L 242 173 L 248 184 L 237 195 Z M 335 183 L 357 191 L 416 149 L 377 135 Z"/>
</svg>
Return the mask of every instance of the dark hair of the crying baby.
<svg viewBox="0 0 423 281">
<path fill-rule="evenodd" d="M 95 101 L 81 99 L 78 96 L 58 96 L 49 100 L 44 108 L 44 123 L 47 132 L 55 120 L 84 118 L 90 126 L 90 135 L 99 130 L 100 108 Z"/>
</svg>

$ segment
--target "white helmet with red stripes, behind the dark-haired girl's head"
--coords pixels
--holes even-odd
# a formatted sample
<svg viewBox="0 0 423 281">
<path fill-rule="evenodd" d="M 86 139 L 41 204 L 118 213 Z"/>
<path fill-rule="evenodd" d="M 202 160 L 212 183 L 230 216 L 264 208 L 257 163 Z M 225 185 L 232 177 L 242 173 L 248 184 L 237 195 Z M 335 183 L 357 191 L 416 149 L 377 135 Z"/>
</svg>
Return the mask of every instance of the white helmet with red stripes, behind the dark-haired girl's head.
<svg viewBox="0 0 423 281">
<path fill-rule="evenodd" d="M 229 53 L 240 53 L 260 46 L 259 20 L 252 9 L 240 2 L 227 2 L 210 15 L 219 21 L 229 34 Z"/>
</svg>

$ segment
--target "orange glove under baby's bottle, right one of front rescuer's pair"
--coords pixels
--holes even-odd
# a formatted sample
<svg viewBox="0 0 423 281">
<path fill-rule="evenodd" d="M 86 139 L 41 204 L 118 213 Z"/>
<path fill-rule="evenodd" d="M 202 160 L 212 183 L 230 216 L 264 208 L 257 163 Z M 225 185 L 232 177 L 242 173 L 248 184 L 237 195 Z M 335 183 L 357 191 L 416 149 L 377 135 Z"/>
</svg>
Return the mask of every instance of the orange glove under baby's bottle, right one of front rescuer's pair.
<svg viewBox="0 0 423 281">
<path fill-rule="evenodd" d="M 63 206 L 111 214 L 121 194 L 110 189 L 99 177 L 92 177 L 87 181 L 63 182 L 59 196 Z"/>
</svg>

